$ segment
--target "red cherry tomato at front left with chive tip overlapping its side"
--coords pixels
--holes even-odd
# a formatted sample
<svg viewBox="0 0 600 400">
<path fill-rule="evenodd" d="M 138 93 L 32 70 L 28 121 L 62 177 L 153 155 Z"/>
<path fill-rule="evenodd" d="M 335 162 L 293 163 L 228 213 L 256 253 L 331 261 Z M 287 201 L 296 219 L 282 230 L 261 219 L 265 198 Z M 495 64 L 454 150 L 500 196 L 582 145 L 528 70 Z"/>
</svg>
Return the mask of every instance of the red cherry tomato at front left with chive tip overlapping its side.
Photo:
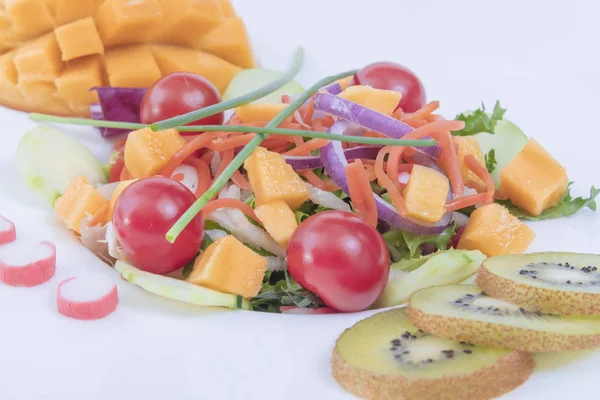
<svg viewBox="0 0 600 400">
<path fill-rule="evenodd" d="M 191 261 L 204 240 L 202 215 L 174 243 L 165 235 L 195 200 L 188 188 L 169 178 L 146 178 L 127 186 L 115 203 L 113 225 L 128 261 L 155 274 L 168 274 Z"/>
</svg>

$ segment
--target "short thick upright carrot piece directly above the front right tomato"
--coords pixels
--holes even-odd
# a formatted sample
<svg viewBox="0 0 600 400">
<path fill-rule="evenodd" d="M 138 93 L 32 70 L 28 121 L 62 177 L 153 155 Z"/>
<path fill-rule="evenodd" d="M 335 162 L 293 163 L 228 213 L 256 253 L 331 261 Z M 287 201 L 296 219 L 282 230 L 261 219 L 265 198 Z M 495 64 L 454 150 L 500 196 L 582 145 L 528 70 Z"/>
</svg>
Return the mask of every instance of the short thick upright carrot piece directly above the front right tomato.
<svg viewBox="0 0 600 400">
<path fill-rule="evenodd" d="M 372 227 L 377 226 L 377 204 L 363 163 L 359 160 L 346 166 L 348 191 L 354 212 Z"/>
</svg>

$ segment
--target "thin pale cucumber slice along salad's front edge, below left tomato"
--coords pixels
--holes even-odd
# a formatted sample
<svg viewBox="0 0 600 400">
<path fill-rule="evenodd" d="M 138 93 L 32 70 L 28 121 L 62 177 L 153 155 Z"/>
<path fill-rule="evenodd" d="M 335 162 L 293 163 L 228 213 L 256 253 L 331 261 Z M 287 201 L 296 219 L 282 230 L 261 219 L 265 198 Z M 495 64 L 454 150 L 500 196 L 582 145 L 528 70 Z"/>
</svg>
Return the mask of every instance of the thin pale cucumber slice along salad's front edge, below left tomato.
<svg viewBox="0 0 600 400">
<path fill-rule="evenodd" d="M 250 310 L 250 302 L 242 296 L 217 292 L 193 285 L 186 281 L 142 271 L 123 261 L 117 261 L 115 269 L 127 282 L 142 289 L 173 300 L 198 306 L 229 307 Z"/>
</svg>

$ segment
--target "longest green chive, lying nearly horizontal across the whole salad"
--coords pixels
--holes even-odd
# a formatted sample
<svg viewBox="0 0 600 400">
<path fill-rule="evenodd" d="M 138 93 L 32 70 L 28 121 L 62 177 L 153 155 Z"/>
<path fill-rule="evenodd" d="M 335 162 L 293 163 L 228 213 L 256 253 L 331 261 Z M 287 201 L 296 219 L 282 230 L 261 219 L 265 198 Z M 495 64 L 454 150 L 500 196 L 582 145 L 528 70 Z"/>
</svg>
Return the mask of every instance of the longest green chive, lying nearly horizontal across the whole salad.
<svg viewBox="0 0 600 400">
<path fill-rule="evenodd" d="M 53 122 L 58 124 L 70 125 L 87 125 L 102 128 L 118 128 L 118 129 L 142 129 L 148 125 L 138 124 L 135 122 L 118 122 L 118 121 L 103 121 L 88 118 L 68 118 L 57 117 L 55 115 L 32 113 L 29 118 L 37 122 Z M 267 135 L 280 136 L 301 136 L 311 139 L 326 139 L 337 140 L 339 142 L 372 144 L 377 146 L 410 146 L 410 147 L 431 147 L 436 145 L 433 139 L 424 140 L 408 140 L 408 139 L 392 139 L 392 138 L 373 138 L 362 136 L 344 136 L 334 135 L 326 132 L 315 132 L 301 129 L 282 129 L 282 128 L 267 128 L 260 126 L 244 126 L 244 125 L 186 125 L 177 128 L 180 132 L 248 132 L 248 133 L 263 133 Z"/>
</svg>

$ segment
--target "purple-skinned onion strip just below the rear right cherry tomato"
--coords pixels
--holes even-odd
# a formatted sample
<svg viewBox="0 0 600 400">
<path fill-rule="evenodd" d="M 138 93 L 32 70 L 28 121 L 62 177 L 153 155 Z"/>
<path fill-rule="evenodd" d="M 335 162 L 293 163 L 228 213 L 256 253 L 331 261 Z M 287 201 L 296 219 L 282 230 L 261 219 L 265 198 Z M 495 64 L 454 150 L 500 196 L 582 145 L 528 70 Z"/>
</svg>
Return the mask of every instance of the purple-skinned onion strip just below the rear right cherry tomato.
<svg viewBox="0 0 600 400">
<path fill-rule="evenodd" d="M 410 125 L 402 121 L 329 93 L 316 93 L 313 106 L 315 110 L 324 111 L 327 114 L 353 122 L 370 131 L 378 132 L 394 139 L 402 139 L 407 133 L 413 131 Z M 433 146 L 423 147 L 421 151 L 432 157 L 437 157 L 441 149 L 438 146 Z"/>
</svg>

